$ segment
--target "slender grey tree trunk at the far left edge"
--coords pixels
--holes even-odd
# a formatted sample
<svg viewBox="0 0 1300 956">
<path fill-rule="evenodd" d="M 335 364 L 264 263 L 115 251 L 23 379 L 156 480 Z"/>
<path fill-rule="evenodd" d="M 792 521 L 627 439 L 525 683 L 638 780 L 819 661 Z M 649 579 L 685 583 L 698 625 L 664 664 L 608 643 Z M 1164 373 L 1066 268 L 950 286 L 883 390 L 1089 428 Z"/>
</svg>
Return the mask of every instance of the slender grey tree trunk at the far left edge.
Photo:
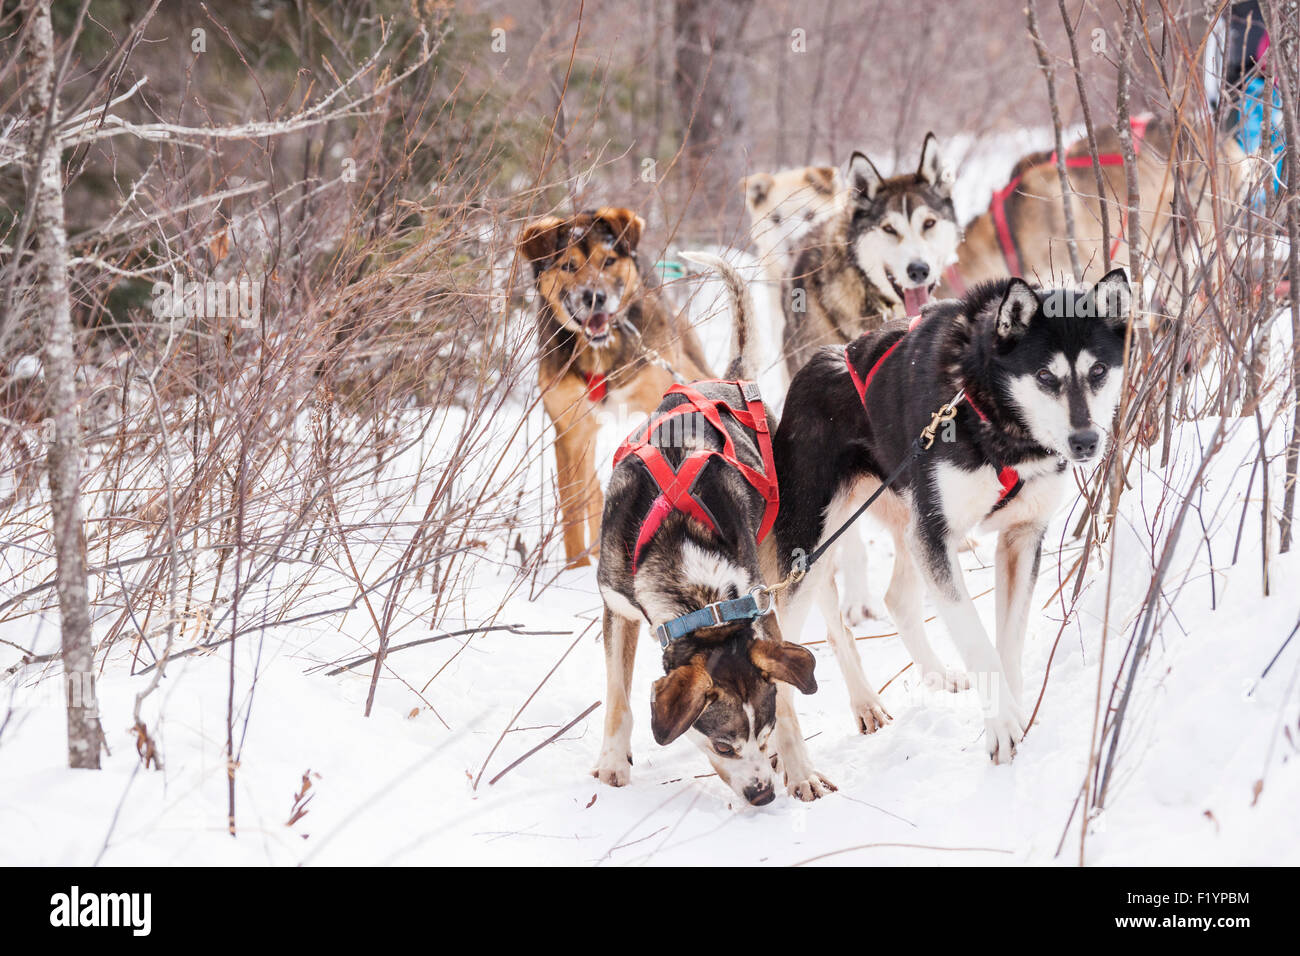
<svg viewBox="0 0 1300 956">
<path fill-rule="evenodd" d="M 95 700 L 94 652 L 90 641 L 90 601 L 86 583 L 86 538 L 81 514 L 81 436 L 77 424 L 77 362 L 68 298 L 68 232 L 60 169 L 58 98 L 55 88 L 55 35 L 49 0 L 29 7 L 27 69 L 30 73 L 31 156 L 27 202 L 34 206 L 36 243 L 35 300 L 46 329 L 46 394 L 53 437 L 46 454 L 56 585 L 62 627 L 64 687 L 68 705 L 68 765 L 99 769 L 103 732 Z M 46 135 L 46 130 L 49 130 Z"/>
</svg>

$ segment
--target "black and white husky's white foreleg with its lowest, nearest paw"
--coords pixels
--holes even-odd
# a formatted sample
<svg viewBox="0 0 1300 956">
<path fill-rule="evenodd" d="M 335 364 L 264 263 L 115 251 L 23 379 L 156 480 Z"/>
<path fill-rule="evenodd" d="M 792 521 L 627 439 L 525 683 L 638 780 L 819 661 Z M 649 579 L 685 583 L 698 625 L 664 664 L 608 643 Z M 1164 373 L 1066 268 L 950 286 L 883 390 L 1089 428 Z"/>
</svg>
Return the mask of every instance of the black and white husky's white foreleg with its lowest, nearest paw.
<svg viewBox="0 0 1300 956">
<path fill-rule="evenodd" d="M 915 554 L 922 555 L 939 617 L 957 645 L 966 670 L 979 683 L 984 710 L 984 747 L 994 763 L 1009 763 L 1015 745 L 1024 737 L 1024 714 L 1002 671 L 997 650 L 984 631 L 975 602 L 961 576 L 957 554 L 948 541 L 918 540 Z"/>
</svg>

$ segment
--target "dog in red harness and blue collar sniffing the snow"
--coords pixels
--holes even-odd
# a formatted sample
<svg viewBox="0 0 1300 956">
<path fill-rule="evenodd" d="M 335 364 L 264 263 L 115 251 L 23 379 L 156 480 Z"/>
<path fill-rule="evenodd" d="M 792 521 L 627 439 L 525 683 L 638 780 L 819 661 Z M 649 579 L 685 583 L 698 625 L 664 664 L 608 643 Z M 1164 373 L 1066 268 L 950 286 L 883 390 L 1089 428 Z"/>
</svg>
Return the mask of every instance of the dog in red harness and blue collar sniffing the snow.
<svg viewBox="0 0 1300 956">
<path fill-rule="evenodd" d="M 775 416 L 763 406 L 753 378 L 757 368 L 749 328 L 753 304 L 744 280 L 718 256 L 682 254 L 718 269 L 732 298 L 736 323 L 734 355 L 728 376 L 736 381 L 696 382 L 690 389 L 706 402 L 720 402 L 754 415 L 771 434 Z M 689 406 L 684 408 L 684 406 Z M 727 442 L 734 462 L 763 470 L 757 432 L 729 411 L 719 420 L 725 433 L 707 424 L 694 399 L 667 394 L 645 431 L 642 450 L 679 479 L 688 459 L 706 463 L 689 484 L 692 515 L 659 484 L 637 454 L 616 458 L 601 519 L 601 561 L 597 583 L 604 602 L 604 741 L 593 774 L 621 787 L 632 769 L 632 705 L 628 689 L 641 623 L 651 633 L 719 602 L 744 604 L 763 585 L 757 538 L 767 532 L 768 502 L 738 467 L 723 458 Z M 757 412 L 757 415 L 755 415 Z M 670 427 L 673 421 L 681 427 Z M 663 423 L 663 424 L 659 424 Z M 689 427 L 688 427 L 689 425 Z M 764 436 L 766 438 L 766 436 Z M 653 449 L 646 449 L 653 446 Z M 768 468 L 768 471 L 771 471 Z M 768 475 L 771 477 L 771 475 Z M 766 533 L 764 540 L 771 540 Z M 770 598 L 762 597 L 763 610 Z M 755 605 L 750 605 L 755 607 Z M 706 618 L 708 615 L 706 614 Z M 809 762 L 794 713 L 792 687 L 816 691 L 815 659 L 802 646 L 781 639 L 774 614 L 719 620 L 673 637 L 664 635 L 664 676 L 654 684 L 650 727 L 655 741 L 668 744 L 685 735 L 718 775 L 746 801 L 771 803 L 776 796 L 774 769 L 784 770 L 788 791 L 815 800 L 835 787 Z"/>
</svg>

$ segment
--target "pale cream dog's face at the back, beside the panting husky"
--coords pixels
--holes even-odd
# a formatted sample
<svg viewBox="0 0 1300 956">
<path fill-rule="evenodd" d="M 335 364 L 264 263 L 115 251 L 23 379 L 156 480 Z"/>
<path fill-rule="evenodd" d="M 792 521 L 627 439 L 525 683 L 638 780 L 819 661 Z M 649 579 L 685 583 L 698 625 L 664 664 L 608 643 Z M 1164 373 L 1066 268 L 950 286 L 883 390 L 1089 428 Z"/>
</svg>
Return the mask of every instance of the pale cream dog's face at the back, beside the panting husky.
<svg viewBox="0 0 1300 956">
<path fill-rule="evenodd" d="M 750 237 L 764 258 L 788 251 L 812 224 L 842 208 L 844 181 L 835 166 L 754 173 L 740 186 Z"/>
</svg>

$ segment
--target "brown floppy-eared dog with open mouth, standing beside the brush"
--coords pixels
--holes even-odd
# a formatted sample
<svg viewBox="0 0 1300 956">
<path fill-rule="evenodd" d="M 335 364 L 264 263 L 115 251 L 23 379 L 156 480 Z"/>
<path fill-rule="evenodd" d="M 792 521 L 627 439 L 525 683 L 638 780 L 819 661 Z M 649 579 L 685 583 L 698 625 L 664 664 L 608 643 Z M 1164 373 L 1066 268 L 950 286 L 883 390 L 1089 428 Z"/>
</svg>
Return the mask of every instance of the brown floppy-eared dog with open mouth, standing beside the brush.
<svg viewBox="0 0 1300 956">
<path fill-rule="evenodd" d="M 694 332 L 642 280 L 636 252 L 644 228 L 630 209 L 603 207 L 568 219 L 546 216 L 519 237 L 541 299 L 538 377 L 555 424 L 569 567 L 590 563 L 601 532 L 593 412 L 610 402 L 654 411 L 672 385 L 663 364 L 688 381 L 712 377 Z"/>
</svg>

